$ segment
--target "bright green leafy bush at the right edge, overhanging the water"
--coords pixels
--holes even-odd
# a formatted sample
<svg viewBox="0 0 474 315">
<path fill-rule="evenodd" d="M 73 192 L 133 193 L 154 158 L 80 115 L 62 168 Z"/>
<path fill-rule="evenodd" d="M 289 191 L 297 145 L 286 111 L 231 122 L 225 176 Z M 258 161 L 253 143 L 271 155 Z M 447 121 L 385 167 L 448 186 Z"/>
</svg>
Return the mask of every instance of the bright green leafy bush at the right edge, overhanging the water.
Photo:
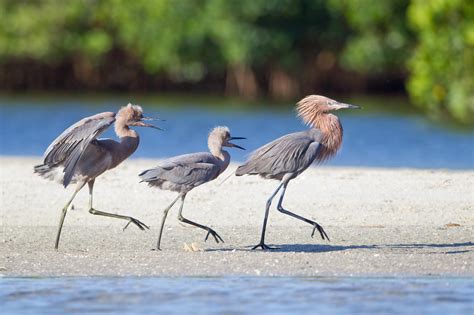
<svg viewBox="0 0 474 315">
<path fill-rule="evenodd" d="M 417 46 L 408 91 L 431 115 L 474 122 L 474 1 L 412 1 L 408 19 Z"/>
</svg>

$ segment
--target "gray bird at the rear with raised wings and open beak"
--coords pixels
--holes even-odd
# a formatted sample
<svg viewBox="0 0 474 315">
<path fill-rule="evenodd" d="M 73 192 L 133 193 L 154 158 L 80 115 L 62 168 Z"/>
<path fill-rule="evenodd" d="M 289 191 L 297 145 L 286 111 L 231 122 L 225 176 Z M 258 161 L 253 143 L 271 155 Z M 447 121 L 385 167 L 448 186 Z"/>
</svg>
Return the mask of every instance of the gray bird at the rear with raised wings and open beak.
<svg viewBox="0 0 474 315">
<path fill-rule="evenodd" d="M 92 207 L 92 191 L 97 176 L 119 165 L 138 147 L 138 133 L 129 127 L 160 129 L 146 123 L 147 120 L 154 119 L 143 117 L 140 106 L 128 104 L 116 114 L 104 112 L 78 121 L 67 128 L 46 149 L 43 164 L 34 167 L 35 173 L 48 179 L 59 180 L 64 187 L 70 183 L 75 184 L 74 193 L 61 212 L 55 249 L 59 246 L 61 229 L 69 205 L 85 184 L 89 185 L 89 212 L 91 214 L 127 220 L 129 222 L 125 228 L 130 223 L 141 230 L 148 228 L 135 218 L 99 211 Z M 97 139 L 112 124 L 115 124 L 115 133 L 120 138 L 120 142 L 112 139 Z M 61 169 L 62 172 L 57 171 Z"/>
</svg>

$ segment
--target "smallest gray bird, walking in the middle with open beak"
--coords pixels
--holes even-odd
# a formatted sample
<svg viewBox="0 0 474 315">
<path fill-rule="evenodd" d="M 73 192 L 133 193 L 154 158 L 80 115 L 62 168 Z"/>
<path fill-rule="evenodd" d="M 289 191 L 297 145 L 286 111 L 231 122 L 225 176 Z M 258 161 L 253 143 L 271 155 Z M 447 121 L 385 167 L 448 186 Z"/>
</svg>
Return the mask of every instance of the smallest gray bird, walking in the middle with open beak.
<svg viewBox="0 0 474 315">
<path fill-rule="evenodd" d="M 244 148 L 233 144 L 231 140 L 245 139 L 243 137 L 231 137 L 227 127 L 214 128 L 208 138 L 208 147 L 210 152 L 199 152 L 184 154 L 161 162 L 157 167 L 143 171 L 139 174 L 142 182 L 148 183 L 149 186 L 155 186 L 164 190 L 176 191 L 179 193 L 178 197 L 171 202 L 163 211 L 163 218 L 161 220 L 160 232 L 158 235 L 157 250 L 161 250 L 161 236 L 163 234 L 163 227 L 165 225 L 168 211 L 173 205 L 181 199 L 179 207 L 178 219 L 183 222 L 207 231 L 205 240 L 209 235 L 214 237 L 216 243 L 223 242 L 222 238 L 216 231 L 208 226 L 190 221 L 183 217 L 183 205 L 186 194 L 193 188 L 216 179 L 222 172 L 224 172 L 230 162 L 230 154 L 223 150 L 223 147 L 234 147 L 241 150 Z"/>
</svg>

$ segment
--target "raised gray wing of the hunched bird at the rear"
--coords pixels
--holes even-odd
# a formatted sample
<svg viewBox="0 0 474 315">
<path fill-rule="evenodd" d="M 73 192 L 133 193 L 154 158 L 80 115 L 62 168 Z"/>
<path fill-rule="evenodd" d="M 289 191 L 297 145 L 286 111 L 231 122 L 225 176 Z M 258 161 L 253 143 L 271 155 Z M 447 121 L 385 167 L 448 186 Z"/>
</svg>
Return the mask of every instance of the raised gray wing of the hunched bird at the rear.
<svg viewBox="0 0 474 315">
<path fill-rule="evenodd" d="M 66 187 L 85 148 L 115 121 L 115 114 L 104 112 L 86 117 L 67 128 L 46 149 L 43 164 L 64 166 L 63 185 Z"/>
</svg>

